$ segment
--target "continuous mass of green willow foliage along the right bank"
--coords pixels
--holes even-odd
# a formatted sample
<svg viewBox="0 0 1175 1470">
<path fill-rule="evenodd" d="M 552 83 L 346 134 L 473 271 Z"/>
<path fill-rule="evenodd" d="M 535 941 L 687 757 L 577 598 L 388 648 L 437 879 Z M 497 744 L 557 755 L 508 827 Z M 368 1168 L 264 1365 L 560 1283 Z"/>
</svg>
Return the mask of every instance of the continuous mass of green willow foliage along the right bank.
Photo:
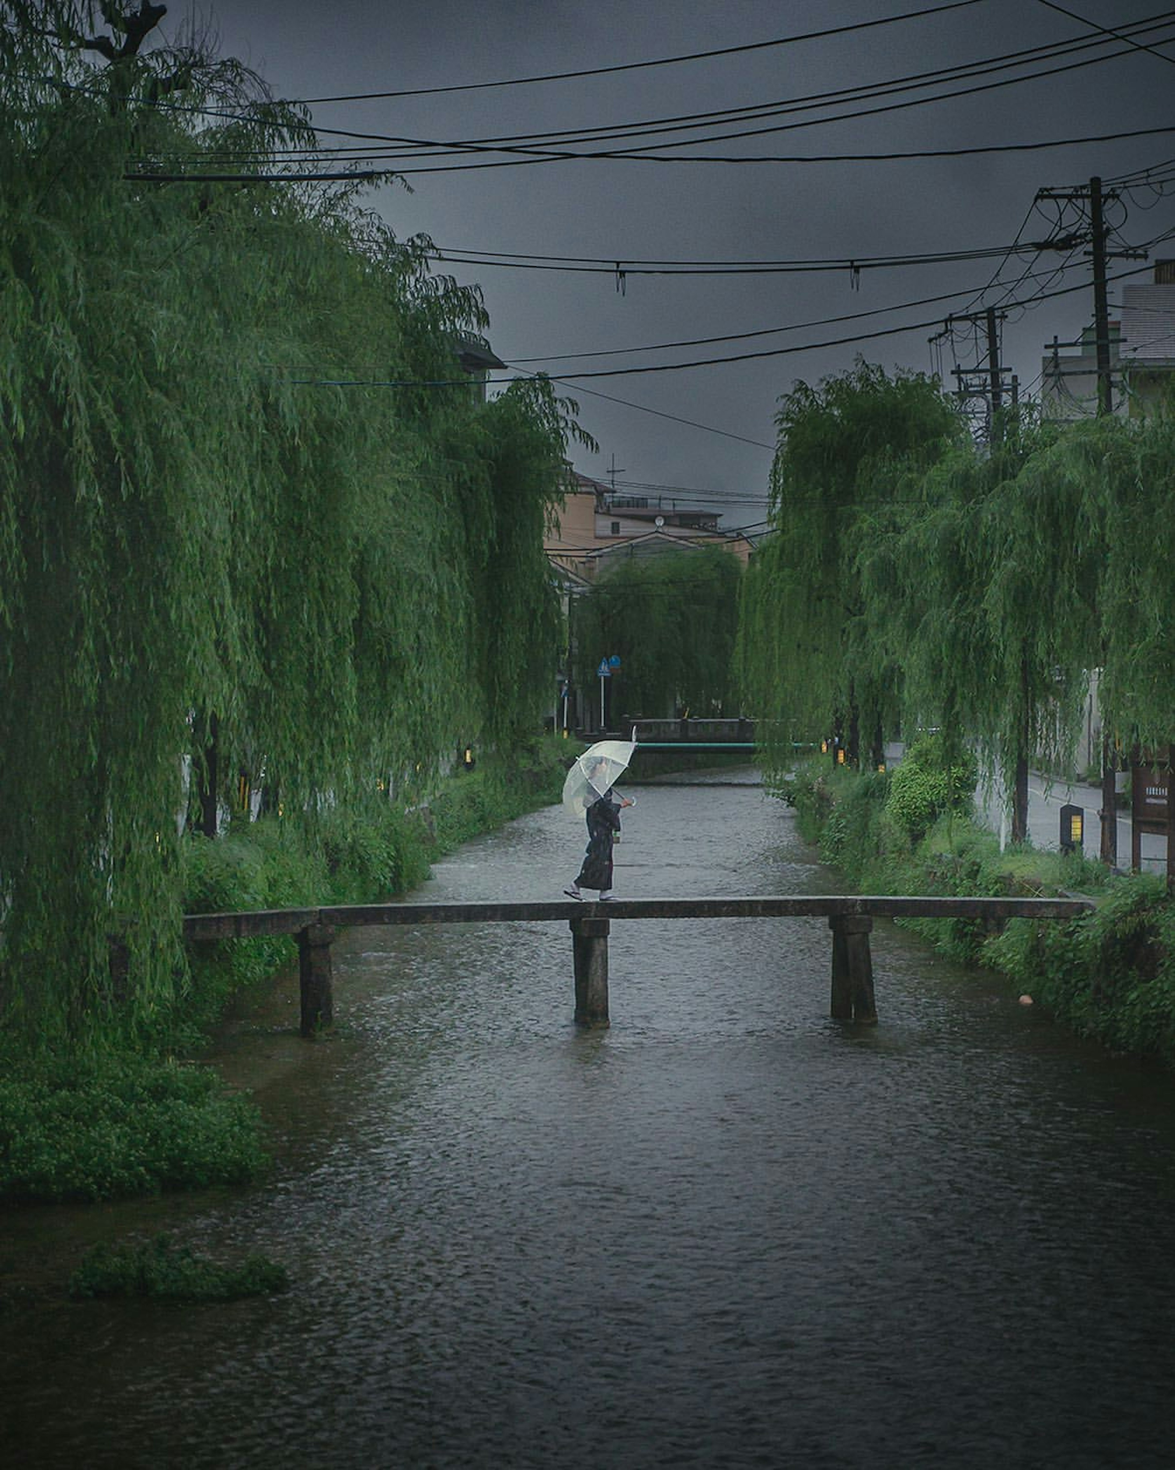
<svg viewBox="0 0 1175 1470">
<path fill-rule="evenodd" d="M 1106 728 L 1165 750 L 1175 419 L 1008 420 L 977 447 L 952 416 L 927 379 L 865 366 L 784 398 L 749 703 L 789 738 L 940 728 L 1022 791 L 1030 760 L 1071 759 L 1099 669 Z"/>
</svg>

